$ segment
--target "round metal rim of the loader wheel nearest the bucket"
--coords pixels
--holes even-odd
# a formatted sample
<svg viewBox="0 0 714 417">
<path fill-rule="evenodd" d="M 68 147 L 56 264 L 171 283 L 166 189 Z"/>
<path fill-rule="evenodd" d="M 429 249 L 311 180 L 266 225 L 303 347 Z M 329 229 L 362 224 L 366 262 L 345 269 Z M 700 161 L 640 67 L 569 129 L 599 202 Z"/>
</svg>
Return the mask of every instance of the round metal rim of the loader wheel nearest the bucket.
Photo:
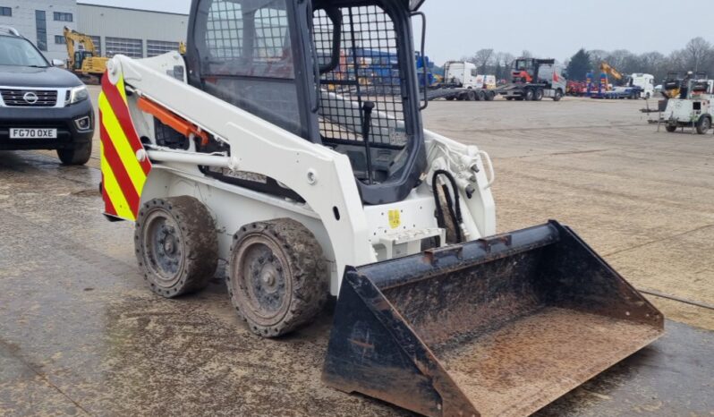
<svg viewBox="0 0 714 417">
<path fill-rule="evenodd" d="M 249 236 L 234 251 L 234 297 L 246 318 L 260 326 L 274 326 L 285 317 L 292 293 L 290 277 L 285 254 L 267 236 Z"/>
</svg>

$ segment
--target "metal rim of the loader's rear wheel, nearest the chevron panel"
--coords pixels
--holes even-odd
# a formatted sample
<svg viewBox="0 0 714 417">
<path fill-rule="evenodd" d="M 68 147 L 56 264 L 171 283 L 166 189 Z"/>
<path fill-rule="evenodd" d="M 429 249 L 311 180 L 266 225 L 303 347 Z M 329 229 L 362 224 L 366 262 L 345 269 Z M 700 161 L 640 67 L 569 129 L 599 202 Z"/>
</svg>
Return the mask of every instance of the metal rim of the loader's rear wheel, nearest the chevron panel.
<svg viewBox="0 0 714 417">
<path fill-rule="evenodd" d="M 144 259 L 153 273 L 154 283 L 164 288 L 174 286 L 184 267 L 181 229 L 163 209 L 155 210 L 146 219 L 143 233 Z"/>
</svg>

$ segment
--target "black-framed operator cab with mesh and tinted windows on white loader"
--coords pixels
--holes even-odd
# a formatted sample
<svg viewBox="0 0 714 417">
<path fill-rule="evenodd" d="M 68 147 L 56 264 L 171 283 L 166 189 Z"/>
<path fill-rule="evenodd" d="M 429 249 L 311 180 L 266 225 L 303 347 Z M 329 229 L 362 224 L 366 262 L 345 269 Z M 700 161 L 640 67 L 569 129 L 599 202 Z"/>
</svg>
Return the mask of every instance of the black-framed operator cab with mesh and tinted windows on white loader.
<svg viewBox="0 0 714 417">
<path fill-rule="evenodd" d="M 189 81 L 349 157 L 365 204 L 404 200 L 426 152 L 407 0 L 193 0 Z"/>
</svg>

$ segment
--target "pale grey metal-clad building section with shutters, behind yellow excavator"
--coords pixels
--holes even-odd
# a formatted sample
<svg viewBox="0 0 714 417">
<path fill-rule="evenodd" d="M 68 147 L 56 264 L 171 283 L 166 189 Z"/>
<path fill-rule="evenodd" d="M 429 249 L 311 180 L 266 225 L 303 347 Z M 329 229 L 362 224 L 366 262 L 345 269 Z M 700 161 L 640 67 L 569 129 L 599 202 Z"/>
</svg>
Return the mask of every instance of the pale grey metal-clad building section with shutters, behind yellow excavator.
<svg viewBox="0 0 714 417">
<path fill-rule="evenodd" d="M 186 40 L 189 17 L 185 14 L 158 13 L 144 10 L 122 9 L 93 4 L 77 4 L 78 30 L 101 38 L 105 55 L 149 56 L 166 42 L 178 47 Z M 109 38 L 107 46 L 106 39 Z M 140 41 L 140 47 L 139 42 Z M 155 47 L 149 47 L 149 45 Z"/>
</svg>

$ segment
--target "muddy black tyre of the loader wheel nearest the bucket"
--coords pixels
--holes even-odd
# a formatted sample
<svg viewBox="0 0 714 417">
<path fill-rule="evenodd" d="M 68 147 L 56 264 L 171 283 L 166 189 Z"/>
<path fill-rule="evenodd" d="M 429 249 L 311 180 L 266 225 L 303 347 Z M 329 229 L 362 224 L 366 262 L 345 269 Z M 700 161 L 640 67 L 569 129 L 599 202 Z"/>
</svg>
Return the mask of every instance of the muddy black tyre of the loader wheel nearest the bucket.
<svg viewBox="0 0 714 417">
<path fill-rule="evenodd" d="M 243 260 L 250 259 L 247 254 L 250 254 L 252 245 L 268 248 L 271 254 L 270 265 L 277 263 L 280 266 L 280 269 L 271 267 L 278 272 L 278 279 L 282 279 L 282 284 L 285 285 L 285 298 L 280 300 L 276 312 L 259 311 L 266 303 L 264 300 L 257 300 L 259 294 L 264 297 L 268 295 L 265 291 L 258 293 L 255 289 L 249 290 L 245 283 L 247 277 L 243 275 L 244 268 L 256 266 L 254 262 L 242 263 Z M 259 263 L 261 273 L 264 273 L 262 268 L 267 264 L 265 260 Z M 275 285 L 266 284 L 254 276 L 251 281 L 257 282 L 261 287 L 259 289 L 262 289 L 263 285 Z M 263 337 L 283 336 L 311 323 L 322 311 L 329 293 L 327 263 L 317 239 L 300 222 L 290 218 L 257 222 L 241 227 L 234 234 L 226 285 L 235 310 L 248 323 L 253 333 Z M 279 289 L 275 292 L 277 291 Z M 264 312 L 273 316 L 261 316 Z"/>
</svg>

